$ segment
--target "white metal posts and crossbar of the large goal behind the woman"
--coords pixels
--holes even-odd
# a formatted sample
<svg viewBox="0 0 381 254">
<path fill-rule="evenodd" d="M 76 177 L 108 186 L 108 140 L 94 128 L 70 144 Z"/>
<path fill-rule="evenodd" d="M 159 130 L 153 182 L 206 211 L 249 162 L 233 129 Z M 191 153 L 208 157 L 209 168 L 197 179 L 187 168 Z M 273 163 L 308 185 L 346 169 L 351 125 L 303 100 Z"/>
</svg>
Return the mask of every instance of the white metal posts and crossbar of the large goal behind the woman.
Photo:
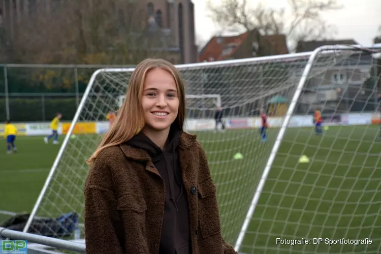
<svg viewBox="0 0 381 254">
<path fill-rule="evenodd" d="M 311 52 L 303 52 L 303 53 L 293 53 L 293 54 L 288 54 L 288 55 L 273 55 L 273 56 L 264 56 L 264 57 L 255 57 L 255 58 L 244 58 L 244 59 L 233 59 L 233 60 L 224 60 L 224 61 L 215 61 L 215 62 L 200 62 L 200 63 L 189 63 L 189 64 L 184 64 L 184 65 L 176 65 L 176 68 L 178 69 L 195 69 L 195 68 L 207 68 L 207 67 L 224 67 L 224 66 L 239 66 L 245 63 L 261 63 L 263 61 L 271 61 L 271 60 L 278 60 L 279 58 L 293 58 L 293 57 L 308 57 L 308 60 L 306 62 L 306 65 L 304 67 L 304 70 L 302 72 L 302 76 L 296 86 L 295 93 L 292 97 L 290 106 L 287 110 L 287 113 L 284 116 L 284 120 L 282 121 L 282 124 L 279 129 L 279 133 L 276 136 L 275 143 L 271 149 L 270 156 L 266 162 L 266 166 L 263 170 L 263 173 L 261 175 L 258 187 L 255 190 L 255 193 L 253 193 L 253 197 L 250 202 L 250 206 L 248 208 L 248 211 L 246 213 L 245 219 L 243 221 L 243 224 L 241 226 L 241 229 L 239 231 L 237 240 L 234 244 L 234 248 L 236 251 L 239 251 L 243 242 L 243 239 L 245 237 L 246 231 L 248 229 L 248 226 L 250 224 L 250 221 L 252 219 L 252 215 L 255 212 L 256 206 L 258 204 L 258 201 L 260 199 L 262 190 L 265 186 L 267 177 L 269 175 L 270 169 L 272 167 L 272 164 L 275 160 L 276 153 L 278 152 L 278 149 L 280 147 L 280 144 L 283 140 L 284 133 L 287 129 L 287 126 L 289 125 L 289 122 L 291 120 L 292 114 L 294 113 L 294 110 L 296 108 L 297 102 L 300 98 L 300 94 L 303 90 L 303 87 L 305 85 L 305 82 L 308 78 L 308 75 L 311 71 L 313 62 L 319 53 L 323 51 L 336 51 L 336 50 L 364 50 L 363 47 L 360 48 L 359 45 L 334 45 L 334 46 L 321 46 L 319 48 L 316 48 L 314 51 Z M 365 48 L 366 49 L 366 48 Z M 96 80 L 96 77 L 103 72 L 133 72 L 135 68 L 105 68 L 105 69 L 99 69 L 95 71 L 92 75 L 91 78 L 88 82 L 88 85 L 85 89 L 85 92 L 83 94 L 83 97 L 78 105 L 77 111 L 74 115 L 74 118 L 72 120 L 72 123 L 70 125 L 70 128 L 68 130 L 67 135 L 65 136 L 65 139 L 62 142 L 62 145 L 57 153 L 57 156 L 54 160 L 54 163 L 50 169 L 50 172 L 45 180 L 45 183 L 43 185 L 43 188 L 38 196 L 38 199 L 33 207 L 33 210 L 30 213 L 30 216 L 26 222 L 26 225 L 23 229 L 23 232 L 26 233 L 31 225 L 32 220 L 35 218 L 36 213 L 39 209 L 39 206 L 42 202 L 42 199 L 47 192 L 48 186 L 50 184 L 50 181 L 53 178 L 53 175 L 55 173 L 55 170 L 57 169 L 57 166 L 59 164 L 59 161 L 61 160 L 61 157 L 63 155 L 63 152 L 65 151 L 65 148 L 70 140 L 70 136 L 73 133 L 75 123 L 78 121 L 80 113 L 82 112 L 82 109 L 85 105 L 85 102 L 89 96 L 89 93 L 91 91 L 92 85 L 94 81 Z"/>
</svg>

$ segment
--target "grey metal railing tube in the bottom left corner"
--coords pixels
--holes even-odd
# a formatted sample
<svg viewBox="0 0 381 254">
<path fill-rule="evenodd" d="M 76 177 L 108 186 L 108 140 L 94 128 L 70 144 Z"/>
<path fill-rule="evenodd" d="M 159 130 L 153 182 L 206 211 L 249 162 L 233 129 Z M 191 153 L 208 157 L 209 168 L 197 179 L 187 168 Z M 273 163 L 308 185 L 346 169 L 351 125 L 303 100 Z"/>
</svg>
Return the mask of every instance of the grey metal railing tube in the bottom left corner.
<svg viewBox="0 0 381 254">
<path fill-rule="evenodd" d="M 70 250 L 74 252 L 84 253 L 85 252 L 85 244 L 72 242 L 67 240 L 61 240 L 46 236 L 40 236 L 35 234 L 23 233 L 19 231 L 9 230 L 6 228 L 0 227 L 0 239 L 1 238 L 9 238 L 12 240 L 27 240 L 28 243 L 38 243 L 45 246 L 54 247 L 57 249 Z M 28 252 L 33 253 L 33 252 Z M 49 253 L 48 251 L 43 252 L 42 249 L 38 252 L 37 248 L 35 249 L 35 253 Z M 52 251 L 50 252 L 52 253 Z M 57 252 L 53 252 L 57 253 Z"/>
</svg>

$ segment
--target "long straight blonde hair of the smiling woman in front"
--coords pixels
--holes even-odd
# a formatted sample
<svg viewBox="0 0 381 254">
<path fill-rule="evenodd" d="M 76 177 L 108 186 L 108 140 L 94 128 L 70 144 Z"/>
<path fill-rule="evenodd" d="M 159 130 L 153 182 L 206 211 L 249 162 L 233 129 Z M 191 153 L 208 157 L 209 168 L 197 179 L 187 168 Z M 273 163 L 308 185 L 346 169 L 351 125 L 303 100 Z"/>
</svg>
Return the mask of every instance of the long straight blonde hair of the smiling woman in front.
<svg viewBox="0 0 381 254">
<path fill-rule="evenodd" d="M 124 103 L 97 150 L 86 161 L 87 164 L 91 165 L 103 149 L 129 141 L 142 131 L 145 125 L 142 109 L 143 86 L 147 73 L 156 68 L 167 71 L 175 79 L 179 98 L 179 110 L 174 123 L 179 124 L 182 131 L 185 120 L 185 88 L 180 72 L 172 63 L 164 59 L 145 59 L 139 63 L 132 73 Z"/>
</svg>

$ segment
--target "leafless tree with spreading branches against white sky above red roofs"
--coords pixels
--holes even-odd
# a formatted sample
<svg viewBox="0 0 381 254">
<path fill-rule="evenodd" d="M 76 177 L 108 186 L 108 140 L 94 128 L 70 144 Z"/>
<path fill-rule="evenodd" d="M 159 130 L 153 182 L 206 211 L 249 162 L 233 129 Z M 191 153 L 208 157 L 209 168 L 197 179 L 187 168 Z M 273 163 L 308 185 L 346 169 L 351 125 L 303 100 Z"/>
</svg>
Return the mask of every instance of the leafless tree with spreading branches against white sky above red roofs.
<svg viewBox="0 0 381 254">
<path fill-rule="evenodd" d="M 257 30 L 259 35 L 284 34 L 296 47 L 298 41 L 319 40 L 335 34 L 322 13 L 338 10 L 336 0 L 288 0 L 289 8 L 274 9 L 258 4 L 250 7 L 247 0 L 223 0 L 219 5 L 208 1 L 210 17 L 228 31 Z M 261 45 L 259 45 L 261 48 Z"/>
</svg>

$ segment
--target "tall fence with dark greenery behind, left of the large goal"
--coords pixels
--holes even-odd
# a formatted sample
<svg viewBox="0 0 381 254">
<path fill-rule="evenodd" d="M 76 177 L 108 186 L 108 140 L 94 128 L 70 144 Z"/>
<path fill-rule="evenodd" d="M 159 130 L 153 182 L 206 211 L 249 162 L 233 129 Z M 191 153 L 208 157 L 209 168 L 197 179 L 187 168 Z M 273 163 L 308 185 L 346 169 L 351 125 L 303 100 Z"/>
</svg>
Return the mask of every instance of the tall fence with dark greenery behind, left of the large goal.
<svg viewBox="0 0 381 254">
<path fill-rule="evenodd" d="M 0 120 L 72 120 L 92 73 L 104 65 L 0 65 Z"/>
</svg>

